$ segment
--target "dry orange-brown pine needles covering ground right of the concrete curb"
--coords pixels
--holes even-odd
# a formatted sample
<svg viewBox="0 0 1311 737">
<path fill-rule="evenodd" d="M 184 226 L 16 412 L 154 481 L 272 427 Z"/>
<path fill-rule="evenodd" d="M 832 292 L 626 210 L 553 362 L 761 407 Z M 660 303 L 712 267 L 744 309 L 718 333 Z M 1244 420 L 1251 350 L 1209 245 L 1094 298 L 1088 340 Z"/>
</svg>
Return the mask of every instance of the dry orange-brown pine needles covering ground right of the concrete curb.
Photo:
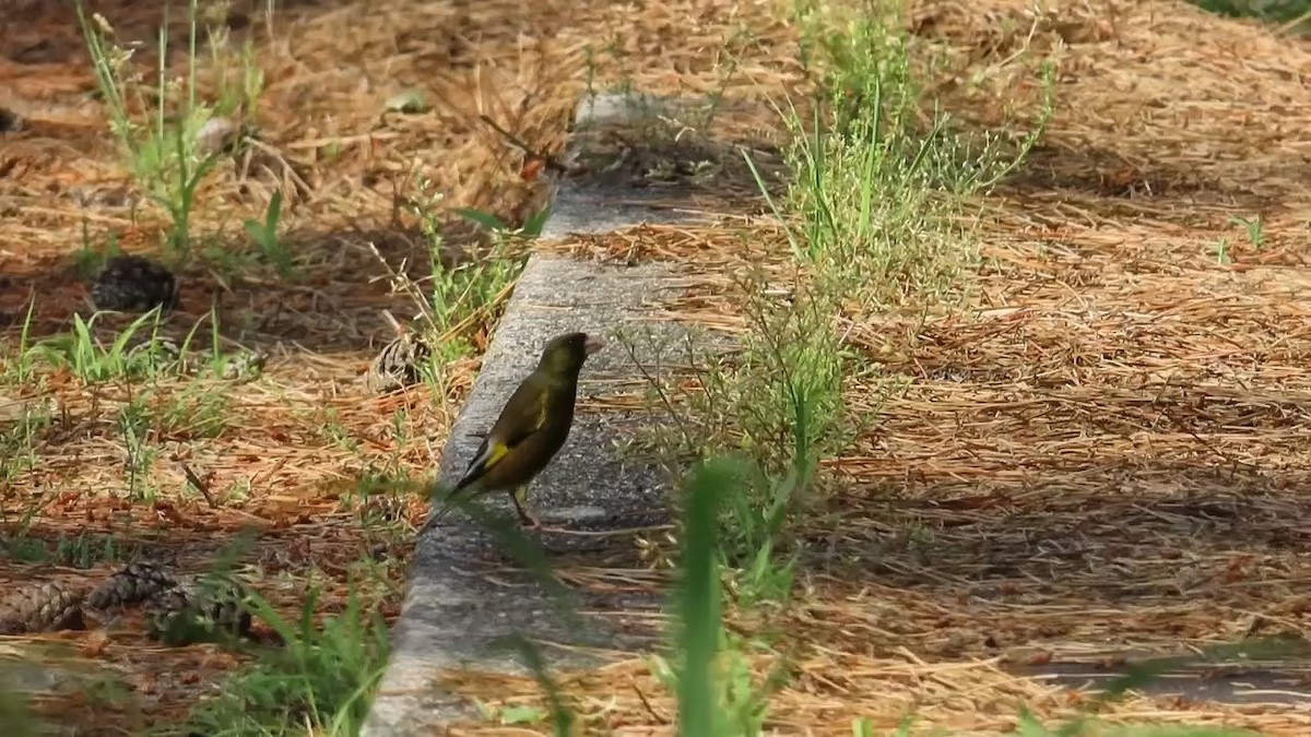
<svg viewBox="0 0 1311 737">
<path fill-rule="evenodd" d="M 969 308 L 848 325 L 884 375 L 914 383 L 881 407 L 878 383 L 848 388 L 877 420 L 825 464 L 801 601 L 737 623 L 802 643 L 772 702 L 779 733 L 850 734 L 859 716 L 891 730 L 916 713 L 924 729 L 998 734 L 1021 706 L 1046 720 L 1080 702 L 1016 667 L 1257 633 L 1289 644 L 1262 665 L 1306 682 L 1311 190 L 1297 131 L 1311 43 L 1183 3 L 1027 8 L 914 9 L 911 28 L 945 46 L 933 79 L 953 113 L 991 126 L 1036 105 L 1021 80 L 1049 55 L 1057 115 L 981 202 Z M 1257 216 L 1260 244 L 1231 220 Z M 730 333 L 749 325 L 728 275 L 772 262 L 784 278 L 789 258 L 777 227 L 728 215 L 557 248 L 678 264 L 690 289 L 666 316 Z M 671 733 L 641 665 L 607 677 L 620 706 L 583 696 L 583 711 L 616 733 Z M 1106 715 L 1306 733 L 1304 704 L 1251 698 L 1135 696 Z"/>
</svg>

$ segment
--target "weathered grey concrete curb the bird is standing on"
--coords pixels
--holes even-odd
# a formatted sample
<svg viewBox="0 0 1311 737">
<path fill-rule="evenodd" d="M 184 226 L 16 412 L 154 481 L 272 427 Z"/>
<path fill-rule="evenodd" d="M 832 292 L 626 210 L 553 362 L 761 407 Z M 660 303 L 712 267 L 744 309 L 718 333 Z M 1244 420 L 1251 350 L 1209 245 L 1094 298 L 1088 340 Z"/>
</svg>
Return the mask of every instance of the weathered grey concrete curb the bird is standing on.
<svg viewBox="0 0 1311 737">
<path fill-rule="evenodd" d="M 576 108 L 570 148 L 577 153 L 593 132 L 606 126 L 631 126 L 645 115 L 659 114 L 663 104 L 650 96 L 585 98 Z M 667 199 L 667 193 L 662 197 Z M 553 212 L 541 237 L 604 233 L 684 219 L 667 209 L 644 207 L 640 199 L 640 193 L 628 190 L 558 182 Z M 543 253 L 531 256 L 443 448 L 439 479 L 450 483 L 463 471 L 480 442 L 475 433 L 490 425 L 509 392 L 531 371 L 544 337 L 572 329 L 619 337 L 631 327 L 625 317 L 640 316 L 642 304 L 654 302 L 654 292 L 667 277 L 658 266 L 616 268 Z M 661 350 L 658 342 L 653 338 L 648 349 Z M 641 357 L 638 361 L 646 363 Z M 594 355 L 581 378 L 579 403 L 595 395 L 607 378 L 631 374 L 632 368 L 624 346 L 612 345 L 610 351 Z M 599 420 L 579 413 L 569 443 L 534 484 L 531 498 L 548 523 L 558 523 L 564 517 L 604 526 L 616 511 L 644 511 L 661 505 L 659 481 L 652 469 L 633 468 L 616 458 L 616 424 L 623 424 L 623 418 L 616 421 L 607 414 Z M 599 473 L 598 456 L 606 456 Z M 598 488 L 603 492 L 598 493 Z M 501 504 L 496 498 L 489 502 Z M 443 725 L 473 716 L 468 704 L 434 683 L 435 675 L 456 673 L 469 664 L 480 670 L 519 670 L 513 657 L 476 652 L 476 645 L 517 631 L 566 639 L 581 635 L 553 622 L 555 615 L 544 606 L 544 591 L 532 582 L 524 582 L 510 595 L 486 589 L 477 573 L 468 569 L 476 565 L 472 557 L 486 553 L 490 540 L 467 519 L 452 523 L 456 517 L 463 518 L 452 513 L 417 542 L 409 590 L 392 629 L 391 658 L 362 729 L 366 737 L 440 733 Z M 456 572 L 458 568 L 461 570 Z"/>
</svg>

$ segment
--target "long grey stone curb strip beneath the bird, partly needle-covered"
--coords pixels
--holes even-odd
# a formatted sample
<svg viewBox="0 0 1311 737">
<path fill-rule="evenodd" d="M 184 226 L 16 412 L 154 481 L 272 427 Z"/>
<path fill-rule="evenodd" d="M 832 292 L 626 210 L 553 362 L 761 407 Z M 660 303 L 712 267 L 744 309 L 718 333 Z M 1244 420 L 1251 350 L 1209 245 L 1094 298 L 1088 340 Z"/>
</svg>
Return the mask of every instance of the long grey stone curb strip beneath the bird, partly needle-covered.
<svg viewBox="0 0 1311 737">
<path fill-rule="evenodd" d="M 585 146 L 598 125 L 621 122 L 633 108 L 600 100 L 579 105 L 576 146 Z M 648 109 L 648 108 L 642 108 Z M 669 199 L 669 191 L 661 198 Z M 565 181 L 543 237 L 570 232 L 608 232 L 642 222 L 676 219 L 669 209 L 648 209 L 641 193 L 606 190 Z M 545 254 L 534 256 L 515 286 L 505 316 L 484 357 L 482 370 L 442 454 L 439 479 L 454 483 L 477 450 L 479 433 L 492 426 L 514 388 L 536 365 L 551 337 L 597 332 L 607 346 L 583 367 L 578 400 L 635 388 L 641 366 L 657 366 L 674 328 L 653 328 L 645 307 L 667 289 L 673 275 L 659 266 L 612 266 Z M 646 334 L 648 338 L 635 336 Z M 663 336 L 663 337 L 662 337 Z M 636 358 L 636 361 L 635 361 Z M 648 368 L 649 370 L 649 368 Z M 530 490 L 530 504 L 548 526 L 616 530 L 662 519 L 663 492 L 656 469 L 624 460 L 616 439 L 625 424 L 642 417 L 587 413 L 579 409 L 568 445 Z M 484 508 L 510 515 L 505 494 Z M 555 553 L 603 555 L 595 535 L 532 535 Z M 620 535 L 621 536 L 621 535 Z M 616 543 L 610 542 L 610 546 Z M 621 540 L 617 544 L 624 544 Z M 506 548 L 456 510 L 420 536 L 401 618 L 392 631 L 392 657 L 379 688 L 367 737 L 440 733 L 440 725 L 471 716 L 472 704 L 443 688 L 439 678 L 463 667 L 519 670 L 513 653 L 498 648 L 522 633 L 538 640 L 623 647 L 617 633 L 595 619 L 578 619 L 557 607 L 547 589 L 509 561 Z M 653 605 L 654 606 L 654 605 Z M 631 644 L 631 643 L 629 643 Z M 551 658 L 551 650 L 544 650 Z M 560 660 L 551 660 L 558 665 Z M 570 661 L 578 665 L 577 661 Z"/>
</svg>

